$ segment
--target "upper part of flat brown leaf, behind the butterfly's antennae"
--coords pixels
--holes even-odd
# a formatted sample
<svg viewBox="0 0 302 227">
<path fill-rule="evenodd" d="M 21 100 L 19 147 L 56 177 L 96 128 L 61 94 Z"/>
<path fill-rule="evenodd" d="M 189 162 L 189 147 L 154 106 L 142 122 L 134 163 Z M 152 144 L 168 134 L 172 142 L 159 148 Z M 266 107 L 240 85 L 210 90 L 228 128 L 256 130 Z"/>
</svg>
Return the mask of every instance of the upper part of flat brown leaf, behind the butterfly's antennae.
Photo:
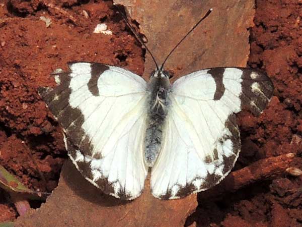
<svg viewBox="0 0 302 227">
<path fill-rule="evenodd" d="M 176 43 L 203 17 L 208 16 L 175 50 L 165 66 L 176 77 L 200 69 L 219 66 L 245 67 L 248 61 L 249 31 L 254 26 L 254 1 L 132 1 L 115 0 L 126 6 L 132 19 L 140 24 L 148 48 L 158 64 Z M 146 54 L 144 78 L 155 65 Z"/>
</svg>

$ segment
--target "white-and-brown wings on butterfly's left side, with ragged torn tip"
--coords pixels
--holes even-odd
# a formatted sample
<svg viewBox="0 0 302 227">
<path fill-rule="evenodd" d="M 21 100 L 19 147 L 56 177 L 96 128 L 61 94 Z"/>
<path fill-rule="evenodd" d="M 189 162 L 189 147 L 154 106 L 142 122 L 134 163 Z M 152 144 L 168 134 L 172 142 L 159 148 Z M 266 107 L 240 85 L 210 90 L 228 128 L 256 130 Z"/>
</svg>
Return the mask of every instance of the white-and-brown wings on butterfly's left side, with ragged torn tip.
<svg viewBox="0 0 302 227">
<path fill-rule="evenodd" d="M 56 75 L 59 85 L 39 90 L 62 125 L 68 155 L 81 174 L 106 194 L 141 194 L 146 82 L 113 66 L 71 63 Z"/>
</svg>

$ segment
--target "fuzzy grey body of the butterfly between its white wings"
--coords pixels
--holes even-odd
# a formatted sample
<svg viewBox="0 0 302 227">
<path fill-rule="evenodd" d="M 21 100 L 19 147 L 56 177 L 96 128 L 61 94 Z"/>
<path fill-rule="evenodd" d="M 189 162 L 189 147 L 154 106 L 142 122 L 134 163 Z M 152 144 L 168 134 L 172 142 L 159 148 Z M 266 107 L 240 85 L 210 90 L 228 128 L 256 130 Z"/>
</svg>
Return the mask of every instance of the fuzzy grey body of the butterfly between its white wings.
<svg viewBox="0 0 302 227">
<path fill-rule="evenodd" d="M 148 99 L 148 120 L 145 137 L 145 162 L 152 167 L 161 148 L 163 124 L 169 105 L 168 93 L 171 84 L 169 75 L 163 71 L 154 71 L 148 82 L 150 96 Z"/>
</svg>

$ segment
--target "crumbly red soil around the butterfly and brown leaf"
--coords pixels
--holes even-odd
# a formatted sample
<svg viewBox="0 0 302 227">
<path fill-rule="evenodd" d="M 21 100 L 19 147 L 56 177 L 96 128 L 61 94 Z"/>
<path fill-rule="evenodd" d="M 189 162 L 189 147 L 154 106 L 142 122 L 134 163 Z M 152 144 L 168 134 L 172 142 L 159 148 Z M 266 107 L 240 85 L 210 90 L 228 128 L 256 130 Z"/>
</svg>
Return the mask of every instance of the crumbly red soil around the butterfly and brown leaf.
<svg viewBox="0 0 302 227">
<path fill-rule="evenodd" d="M 50 73 L 57 68 L 66 70 L 68 61 L 103 62 L 140 75 L 144 63 L 142 50 L 114 15 L 111 2 L 81 7 L 75 0 L 49 2 L 0 4 L 0 18 L 4 18 L 0 19 L 0 164 L 29 188 L 48 192 L 56 187 L 67 156 L 60 128 L 37 88 L 54 86 Z M 302 137 L 301 12 L 301 1 L 257 1 L 249 65 L 266 70 L 275 92 L 259 118 L 240 113 L 243 146 L 235 169 L 286 153 L 296 153 L 294 166 L 302 169 L 301 143 L 293 141 L 293 137 Z M 49 28 L 40 16 L 51 18 Z M 115 35 L 92 35 L 93 21 L 98 20 Z M 222 198 L 200 199 L 187 224 L 302 226 L 301 187 L 302 177 L 284 173 Z M 17 216 L 13 204 L 1 199 L 3 193 L 0 190 L 0 222 Z"/>
</svg>

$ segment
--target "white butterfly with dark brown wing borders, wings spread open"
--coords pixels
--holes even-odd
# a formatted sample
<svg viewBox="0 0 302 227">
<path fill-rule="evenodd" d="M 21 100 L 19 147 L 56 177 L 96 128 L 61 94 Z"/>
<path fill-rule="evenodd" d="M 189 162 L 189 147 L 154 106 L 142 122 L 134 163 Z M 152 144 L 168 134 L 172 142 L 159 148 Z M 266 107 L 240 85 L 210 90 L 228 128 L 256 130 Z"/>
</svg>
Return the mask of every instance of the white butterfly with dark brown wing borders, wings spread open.
<svg viewBox="0 0 302 227">
<path fill-rule="evenodd" d="M 235 67 L 199 70 L 171 85 L 163 65 L 146 82 L 120 67 L 72 62 L 55 75 L 55 88 L 39 89 L 73 164 L 105 194 L 137 198 L 149 170 L 160 199 L 218 184 L 241 149 L 235 114 L 259 115 L 274 89 L 265 73 Z"/>
</svg>

